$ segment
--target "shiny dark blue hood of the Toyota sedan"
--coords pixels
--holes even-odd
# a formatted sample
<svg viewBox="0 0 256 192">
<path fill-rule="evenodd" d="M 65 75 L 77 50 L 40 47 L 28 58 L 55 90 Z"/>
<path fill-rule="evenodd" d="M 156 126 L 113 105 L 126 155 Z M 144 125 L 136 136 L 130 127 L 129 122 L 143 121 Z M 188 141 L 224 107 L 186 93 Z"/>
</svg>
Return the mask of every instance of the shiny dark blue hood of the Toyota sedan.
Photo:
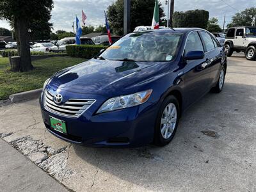
<svg viewBox="0 0 256 192">
<path fill-rule="evenodd" d="M 170 62 L 86 61 L 55 74 L 49 86 L 53 90 L 115 95 L 116 90 L 129 93 L 129 88 L 168 71 Z"/>
</svg>

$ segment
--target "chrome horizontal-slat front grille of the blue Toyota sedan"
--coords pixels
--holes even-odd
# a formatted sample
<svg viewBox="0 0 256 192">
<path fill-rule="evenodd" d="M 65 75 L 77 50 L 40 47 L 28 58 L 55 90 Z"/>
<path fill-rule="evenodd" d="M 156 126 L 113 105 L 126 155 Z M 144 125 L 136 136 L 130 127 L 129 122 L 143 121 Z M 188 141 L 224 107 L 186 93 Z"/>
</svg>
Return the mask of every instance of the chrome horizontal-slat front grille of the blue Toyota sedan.
<svg viewBox="0 0 256 192">
<path fill-rule="evenodd" d="M 94 99 L 68 99 L 64 104 L 58 105 L 53 100 L 53 95 L 45 91 L 44 107 L 57 115 L 78 117 L 96 101 Z"/>
</svg>

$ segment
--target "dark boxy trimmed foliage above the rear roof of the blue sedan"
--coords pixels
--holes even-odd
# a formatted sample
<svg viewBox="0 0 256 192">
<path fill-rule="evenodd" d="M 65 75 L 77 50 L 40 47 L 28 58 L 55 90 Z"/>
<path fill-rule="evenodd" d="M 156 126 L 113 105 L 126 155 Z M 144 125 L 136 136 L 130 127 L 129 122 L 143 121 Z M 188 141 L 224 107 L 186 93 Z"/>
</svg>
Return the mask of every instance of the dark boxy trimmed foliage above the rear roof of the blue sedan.
<svg viewBox="0 0 256 192">
<path fill-rule="evenodd" d="M 205 10 L 189 10 L 173 13 L 174 28 L 202 28 L 207 29 L 209 12 Z"/>
</svg>

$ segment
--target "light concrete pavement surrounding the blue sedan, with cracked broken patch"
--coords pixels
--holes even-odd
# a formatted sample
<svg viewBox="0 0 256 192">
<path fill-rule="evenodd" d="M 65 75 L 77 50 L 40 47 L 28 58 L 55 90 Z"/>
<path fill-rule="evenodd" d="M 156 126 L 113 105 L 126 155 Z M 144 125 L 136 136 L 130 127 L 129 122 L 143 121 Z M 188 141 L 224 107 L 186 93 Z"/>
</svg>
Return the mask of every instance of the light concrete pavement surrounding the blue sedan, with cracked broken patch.
<svg viewBox="0 0 256 192">
<path fill-rule="evenodd" d="M 228 58 L 223 92 L 189 108 L 163 148 L 61 141 L 45 130 L 38 100 L 0 107 L 0 137 L 74 191 L 255 191 L 256 61 Z"/>
</svg>

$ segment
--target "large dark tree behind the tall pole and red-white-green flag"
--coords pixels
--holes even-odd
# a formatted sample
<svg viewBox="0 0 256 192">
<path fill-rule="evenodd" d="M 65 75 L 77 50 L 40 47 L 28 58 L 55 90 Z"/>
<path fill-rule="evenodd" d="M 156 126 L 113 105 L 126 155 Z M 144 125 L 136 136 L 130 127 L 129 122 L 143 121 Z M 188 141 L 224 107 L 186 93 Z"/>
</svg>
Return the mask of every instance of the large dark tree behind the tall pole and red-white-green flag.
<svg viewBox="0 0 256 192">
<path fill-rule="evenodd" d="M 154 6 L 155 0 L 131 0 L 131 30 L 137 26 L 151 26 Z M 159 3 L 159 17 L 164 17 L 161 3 Z M 108 7 L 108 20 L 110 28 L 116 35 L 124 34 L 124 0 L 116 0 Z"/>
</svg>

